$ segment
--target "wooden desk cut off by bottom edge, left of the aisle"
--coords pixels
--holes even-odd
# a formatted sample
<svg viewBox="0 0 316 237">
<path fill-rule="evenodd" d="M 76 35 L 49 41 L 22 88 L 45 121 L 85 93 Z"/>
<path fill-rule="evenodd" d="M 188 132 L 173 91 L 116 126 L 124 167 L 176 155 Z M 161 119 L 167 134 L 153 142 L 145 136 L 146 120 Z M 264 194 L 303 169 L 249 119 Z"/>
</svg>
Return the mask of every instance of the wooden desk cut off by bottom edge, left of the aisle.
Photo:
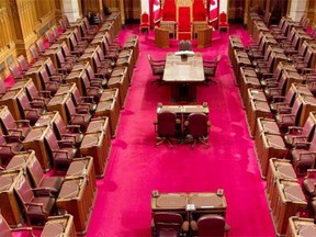
<svg viewBox="0 0 316 237">
<path fill-rule="evenodd" d="M 67 236 L 77 237 L 74 225 L 74 216 L 66 214 L 64 216 L 49 216 L 45 223 L 41 237 Z"/>
</svg>

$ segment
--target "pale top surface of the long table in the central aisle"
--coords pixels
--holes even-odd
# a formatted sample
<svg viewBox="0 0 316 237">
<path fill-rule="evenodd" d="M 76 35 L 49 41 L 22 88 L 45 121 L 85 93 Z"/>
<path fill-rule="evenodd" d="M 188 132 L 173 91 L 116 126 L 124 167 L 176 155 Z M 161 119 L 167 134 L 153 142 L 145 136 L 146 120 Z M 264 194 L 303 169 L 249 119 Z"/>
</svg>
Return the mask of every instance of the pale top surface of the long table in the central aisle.
<svg viewBox="0 0 316 237">
<path fill-rule="evenodd" d="M 201 82 L 204 81 L 203 57 L 195 53 L 184 60 L 181 56 L 168 53 L 162 80 L 166 82 Z"/>
</svg>

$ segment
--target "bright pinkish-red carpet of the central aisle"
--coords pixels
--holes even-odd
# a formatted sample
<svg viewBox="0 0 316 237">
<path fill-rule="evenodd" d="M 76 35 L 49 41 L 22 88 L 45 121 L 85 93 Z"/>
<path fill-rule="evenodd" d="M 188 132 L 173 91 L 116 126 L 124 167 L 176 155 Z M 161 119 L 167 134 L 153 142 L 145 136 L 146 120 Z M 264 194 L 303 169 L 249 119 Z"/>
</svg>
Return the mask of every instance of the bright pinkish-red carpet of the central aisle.
<svg viewBox="0 0 316 237">
<path fill-rule="evenodd" d="M 120 35 L 138 34 L 137 26 L 128 26 Z M 240 26 L 232 26 L 229 34 L 244 37 Z M 153 32 L 139 35 L 140 54 L 134 70 L 125 109 L 121 111 L 117 136 L 104 179 L 98 181 L 98 198 L 87 236 L 150 236 L 150 193 L 216 192 L 224 189 L 227 199 L 226 218 L 229 236 L 274 236 L 266 201 L 266 182 L 260 178 L 253 140 L 249 138 L 245 112 L 234 82 L 227 48 L 228 34 L 215 32 L 213 45 L 203 52 L 204 58 L 222 55 L 217 84 L 201 86 L 198 103 L 207 102 L 212 122 L 208 149 L 188 145 L 173 149 L 155 147 L 153 122 L 158 102 L 170 103 L 168 87 L 150 84 L 154 80 L 147 54 L 165 58 L 172 48 L 155 47 Z M 194 50 L 196 46 L 194 46 Z"/>
</svg>

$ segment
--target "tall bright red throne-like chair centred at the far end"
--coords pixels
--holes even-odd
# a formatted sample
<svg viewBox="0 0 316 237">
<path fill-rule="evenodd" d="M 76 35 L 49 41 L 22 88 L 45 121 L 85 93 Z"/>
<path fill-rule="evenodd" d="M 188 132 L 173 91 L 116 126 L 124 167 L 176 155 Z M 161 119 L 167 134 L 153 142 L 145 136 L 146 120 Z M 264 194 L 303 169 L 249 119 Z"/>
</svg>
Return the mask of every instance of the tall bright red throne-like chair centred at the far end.
<svg viewBox="0 0 316 237">
<path fill-rule="evenodd" d="M 178 8 L 177 38 L 192 40 L 192 9 L 190 7 Z"/>
</svg>

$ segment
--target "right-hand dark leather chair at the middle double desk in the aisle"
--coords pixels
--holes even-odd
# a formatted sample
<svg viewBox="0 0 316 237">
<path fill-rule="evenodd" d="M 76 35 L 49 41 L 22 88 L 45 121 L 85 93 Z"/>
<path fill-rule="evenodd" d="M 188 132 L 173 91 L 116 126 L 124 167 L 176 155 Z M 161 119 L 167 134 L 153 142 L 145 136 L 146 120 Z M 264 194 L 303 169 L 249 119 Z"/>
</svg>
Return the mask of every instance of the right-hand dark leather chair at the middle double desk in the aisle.
<svg viewBox="0 0 316 237">
<path fill-rule="evenodd" d="M 211 122 L 204 113 L 192 113 L 189 115 L 188 120 L 184 122 L 184 126 L 188 128 L 188 134 L 190 139 L 193 138 L 193 144 L 191 148 L 193 149 L 198 142 L 204 144 L 207 148 L 208 145 L 208 131 L 211 127 Z"/>
</svg>

